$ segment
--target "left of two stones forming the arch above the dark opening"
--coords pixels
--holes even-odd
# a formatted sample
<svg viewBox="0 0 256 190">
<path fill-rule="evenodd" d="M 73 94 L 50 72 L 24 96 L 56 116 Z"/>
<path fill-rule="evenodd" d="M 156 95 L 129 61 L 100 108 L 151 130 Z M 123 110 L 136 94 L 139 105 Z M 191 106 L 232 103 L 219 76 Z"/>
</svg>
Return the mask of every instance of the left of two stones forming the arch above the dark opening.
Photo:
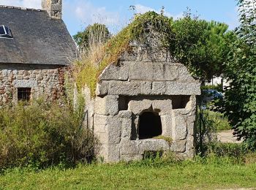
<svg viewBox="0 0 256 190">
<path fill-rule="evenodd" d="M 129 101 L 128 110 L 133 114 L 139 115 L 144 110 L 151 110 L 152 101 L 150 99 L 134 99 Z"/>
</svg>

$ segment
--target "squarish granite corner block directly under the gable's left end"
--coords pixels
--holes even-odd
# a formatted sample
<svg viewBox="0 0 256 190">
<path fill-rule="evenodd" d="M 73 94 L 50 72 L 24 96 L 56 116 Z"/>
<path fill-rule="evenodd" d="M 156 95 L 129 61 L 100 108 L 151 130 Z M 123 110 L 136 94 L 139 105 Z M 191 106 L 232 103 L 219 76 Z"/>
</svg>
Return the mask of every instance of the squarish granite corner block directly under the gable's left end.
<svg viewBox="0 0 256 190">
<path fill-rule="evenodd" d="M 94 102 L 94 113 L 100 115 L 116 115 L 118 113 L 118 96 L 97 96 Z"/>
</svg>

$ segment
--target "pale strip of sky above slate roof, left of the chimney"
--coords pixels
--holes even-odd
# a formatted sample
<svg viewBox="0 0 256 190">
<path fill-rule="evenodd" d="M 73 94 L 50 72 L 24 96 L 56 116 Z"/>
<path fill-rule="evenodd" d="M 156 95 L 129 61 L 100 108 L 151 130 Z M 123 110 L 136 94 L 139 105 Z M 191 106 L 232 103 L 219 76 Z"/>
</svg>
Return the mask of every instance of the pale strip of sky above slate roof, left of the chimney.
<svg viewBox="0 0 256 190">
<path fill-rule="evenodd" d="M 0 0 L 1 5 L 41 9 L 41 0 Z"/>
</svg>

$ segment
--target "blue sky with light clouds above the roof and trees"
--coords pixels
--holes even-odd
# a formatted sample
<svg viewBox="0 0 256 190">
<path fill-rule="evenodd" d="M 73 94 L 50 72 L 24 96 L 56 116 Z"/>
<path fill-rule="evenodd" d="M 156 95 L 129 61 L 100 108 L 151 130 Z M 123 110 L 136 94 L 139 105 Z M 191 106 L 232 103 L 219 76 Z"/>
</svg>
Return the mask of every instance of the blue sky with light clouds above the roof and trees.
<svg viewBox="0 0 256 190">
<path fill-rule="evenodd" d="M 180 18 L 187 7 L 206 20 L 227 23 L 230 29 L 238 26 L 236 0 L 62 0 L 63 20 L 71 35 L 91 23 L 105 23 L 113 33 L 129 23 L 134 13 L 165 7 L 165 14 Z M 0 4 L 41 8 L 41 0 L 0 0 Z M 133 5 L 135 12 L 129 9 Z M 197 13 L 196 13 L 197 12 Z"/>
</svg>

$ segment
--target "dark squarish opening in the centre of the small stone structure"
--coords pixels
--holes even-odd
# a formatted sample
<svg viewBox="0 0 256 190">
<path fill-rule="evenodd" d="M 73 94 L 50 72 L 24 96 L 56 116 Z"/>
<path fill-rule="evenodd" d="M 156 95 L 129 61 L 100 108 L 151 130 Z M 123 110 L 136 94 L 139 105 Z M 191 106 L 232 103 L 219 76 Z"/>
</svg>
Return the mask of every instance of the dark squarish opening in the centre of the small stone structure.
<svg viewBox="0 0 256 190">
<path fill-rule="evenodd" d="M 161 118 L 157 113 L 145 112 L 140 115 L 139 139 L 148 139 L 162 134 Z"/>
</svg>

